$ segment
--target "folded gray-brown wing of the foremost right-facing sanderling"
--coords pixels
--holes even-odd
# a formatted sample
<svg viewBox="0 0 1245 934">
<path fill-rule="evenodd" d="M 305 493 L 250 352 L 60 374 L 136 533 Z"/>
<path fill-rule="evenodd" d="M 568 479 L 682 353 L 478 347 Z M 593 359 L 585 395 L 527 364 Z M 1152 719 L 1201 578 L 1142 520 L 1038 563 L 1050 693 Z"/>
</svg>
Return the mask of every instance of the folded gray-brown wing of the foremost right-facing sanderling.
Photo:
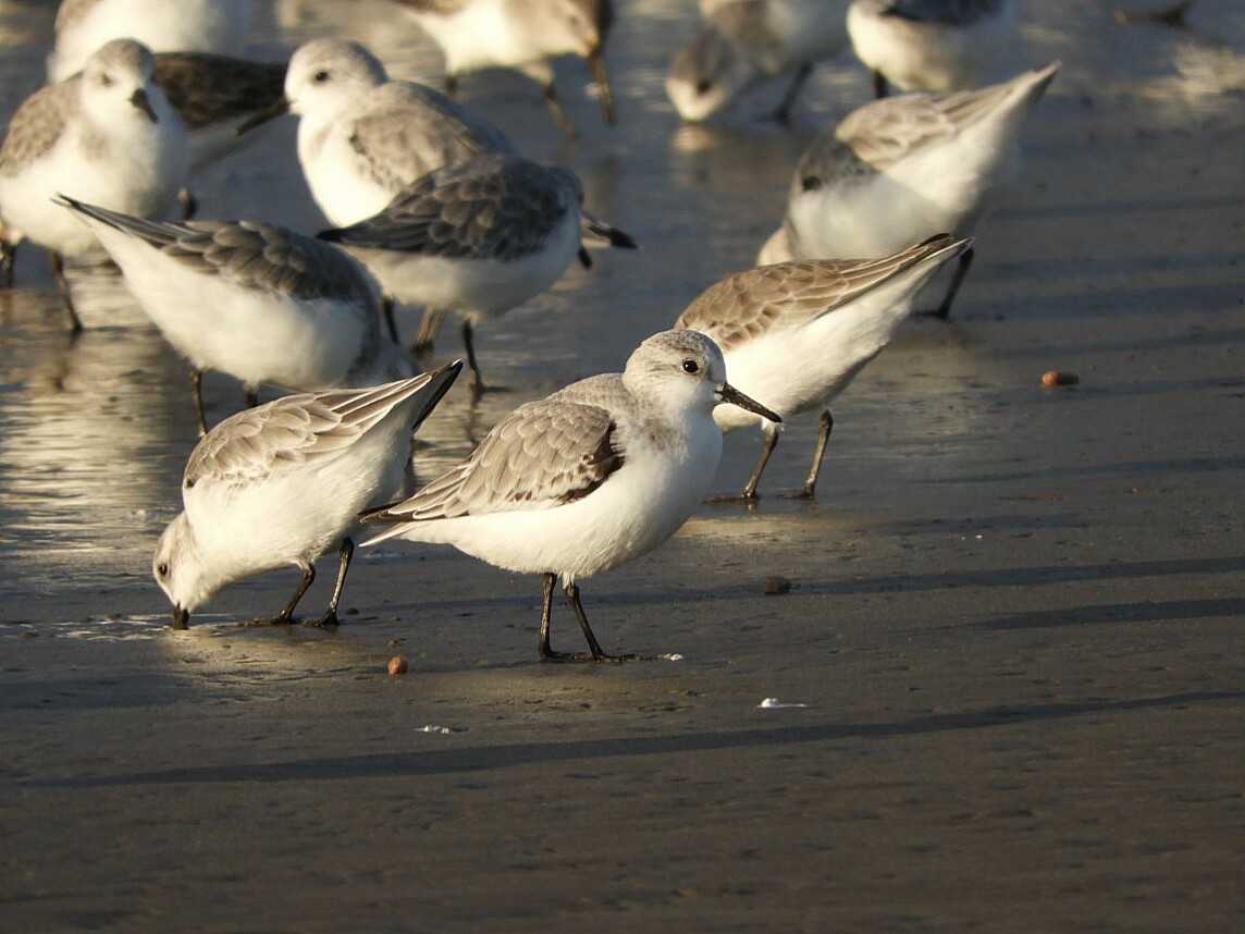
<svg viewBox="0 0 1245 934">
<path fill-rule="evenodd" d="M 364 516 L 423 522 L 458 516 L 550 509 L 596 489 L 624 451 L 605 408 L 547 399 L 514 410 L 471 457 L 411 498 Z"/>
</svg>

